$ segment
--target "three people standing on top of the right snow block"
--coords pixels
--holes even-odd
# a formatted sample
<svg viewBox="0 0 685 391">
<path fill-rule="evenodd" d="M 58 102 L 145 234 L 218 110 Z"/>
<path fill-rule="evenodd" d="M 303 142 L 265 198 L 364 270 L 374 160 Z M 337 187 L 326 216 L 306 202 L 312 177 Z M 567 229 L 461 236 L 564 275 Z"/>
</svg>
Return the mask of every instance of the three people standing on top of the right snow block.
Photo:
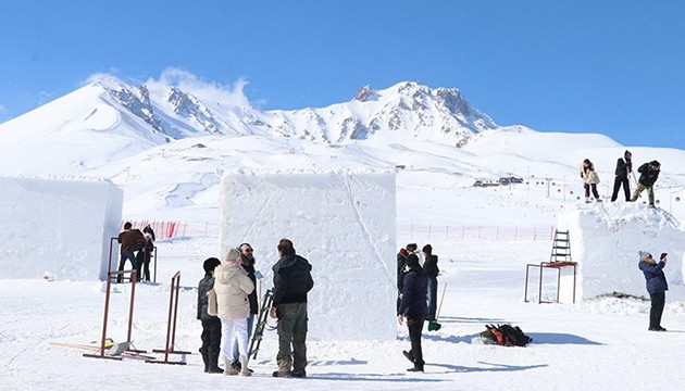
<svg viewBox="0 0 685 391">
<path fill-rule="evenodd" d="M 595 171 L 595 164 L 585 159 L 581 163 L 581 178 L 583 179 L 583 188 L 585 190 L 585 202 L 590 202 L 590 192 L 595 198 L 595 201 L 601 202 L 599 192 L 597 191 L 597 185 L 599 184 L 599 176 Z M 647 197 L 649 198 L 649 205 L 655 206 L 655 189 L 653 186 L 659 178 L 661 171 L 661 164 L 658 161 L 647 162 L 637 168 L 640 174 L 637 179 L 637 188 L 631 197 L 631 182 L 628 176 L 633 173 L 633 154 L 631 151 L 625 151 L 623 157 L 619 157 L 616 161 L 616 168 L 614 171 L 613 192 L 611 193 L 611 202 L 614 202 L 619 198 L 619 191 L 623 187 L 626 202 L 635 202 L 639 194 L 647 190 Z"/>
</svg>

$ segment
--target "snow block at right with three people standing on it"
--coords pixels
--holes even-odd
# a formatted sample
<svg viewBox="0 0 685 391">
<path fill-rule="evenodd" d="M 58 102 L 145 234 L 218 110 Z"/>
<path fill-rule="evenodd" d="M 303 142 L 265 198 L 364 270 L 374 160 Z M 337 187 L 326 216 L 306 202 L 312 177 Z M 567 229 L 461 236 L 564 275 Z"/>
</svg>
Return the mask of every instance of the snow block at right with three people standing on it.
<svg viewBox="0 0 685 391">
<path fill-rule="evenodd" d="M 669 253 L 669 285 L 683 285 L 685 231 L 668 212 L 643 204 L 610 203 L 568 211 L 559 229 L 569 229 L 571 255 L 578 263 L 577 294 L 582 299 L 612 292 L 647 295 L 637 268 L 640 250 L 655 258 Z"/>
</svg>

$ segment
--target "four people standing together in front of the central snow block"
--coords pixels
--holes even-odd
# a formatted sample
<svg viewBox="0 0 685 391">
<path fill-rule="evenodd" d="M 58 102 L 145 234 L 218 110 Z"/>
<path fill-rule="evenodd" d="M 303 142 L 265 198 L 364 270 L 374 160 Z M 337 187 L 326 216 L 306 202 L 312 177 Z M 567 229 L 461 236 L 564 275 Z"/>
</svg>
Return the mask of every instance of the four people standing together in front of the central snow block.
<svg viewBox="0 0 685 391">
<path fill-rule="evenodd" d="M 278 319 L 278 370 L 274 377 L 307 377 L 307 294 L 313 288 L 312 266 L 295 251 L 292 241 L 281 239 L 273 270 L 273 301 L 269 311 Z M 248 341 L 259 313 L 253 249 L 242 243 L 228 249 L 220 261 L 204 261 L 204 277 L 198 285 L 197 318 L 202 323 L 200 353 L 204 371 L 250 376 Z M 213 292 L 212 292 L 213 291 Z M 210 314 L 215 294 L 215 314 Z M 219 366 L 223 357 L 224 368 Z"/>
</svg>

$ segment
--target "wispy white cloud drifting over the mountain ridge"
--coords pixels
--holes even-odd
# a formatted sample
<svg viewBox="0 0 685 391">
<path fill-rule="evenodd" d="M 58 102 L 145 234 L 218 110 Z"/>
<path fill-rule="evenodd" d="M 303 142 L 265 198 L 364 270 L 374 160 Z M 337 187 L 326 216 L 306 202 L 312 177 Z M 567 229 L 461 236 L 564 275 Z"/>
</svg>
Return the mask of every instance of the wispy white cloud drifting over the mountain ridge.
<svg viewBox="0 0 685 391">
<path fill-rule="evenodd" d="M 221 85 L 214 81 L 204 81 L 190 72 L 178 67 L 167 67 L 162 72 L 159 79 L 149 78 L 145 81 L 145 85 L 151 90 L 157 87 L 177 87 L 198 97 L 205 103 L 220 102 L 235 106 L 250 106 L 250 102 L 244 92 L 247 81 L 242 78 L 229 86 Z"/>
</svg>

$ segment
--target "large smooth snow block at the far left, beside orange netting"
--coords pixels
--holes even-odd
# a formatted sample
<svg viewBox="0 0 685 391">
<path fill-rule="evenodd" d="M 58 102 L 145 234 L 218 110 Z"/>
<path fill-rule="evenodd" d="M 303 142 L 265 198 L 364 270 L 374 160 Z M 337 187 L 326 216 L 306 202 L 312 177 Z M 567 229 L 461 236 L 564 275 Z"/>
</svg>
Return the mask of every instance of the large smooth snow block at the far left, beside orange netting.
<svg viewBox="0 0 685 391">
<path fill-rule="evenodd" d="M 104 279 L 122 203 L 109 181 L 0 178 L 0 277 Z"/>
</svg>

